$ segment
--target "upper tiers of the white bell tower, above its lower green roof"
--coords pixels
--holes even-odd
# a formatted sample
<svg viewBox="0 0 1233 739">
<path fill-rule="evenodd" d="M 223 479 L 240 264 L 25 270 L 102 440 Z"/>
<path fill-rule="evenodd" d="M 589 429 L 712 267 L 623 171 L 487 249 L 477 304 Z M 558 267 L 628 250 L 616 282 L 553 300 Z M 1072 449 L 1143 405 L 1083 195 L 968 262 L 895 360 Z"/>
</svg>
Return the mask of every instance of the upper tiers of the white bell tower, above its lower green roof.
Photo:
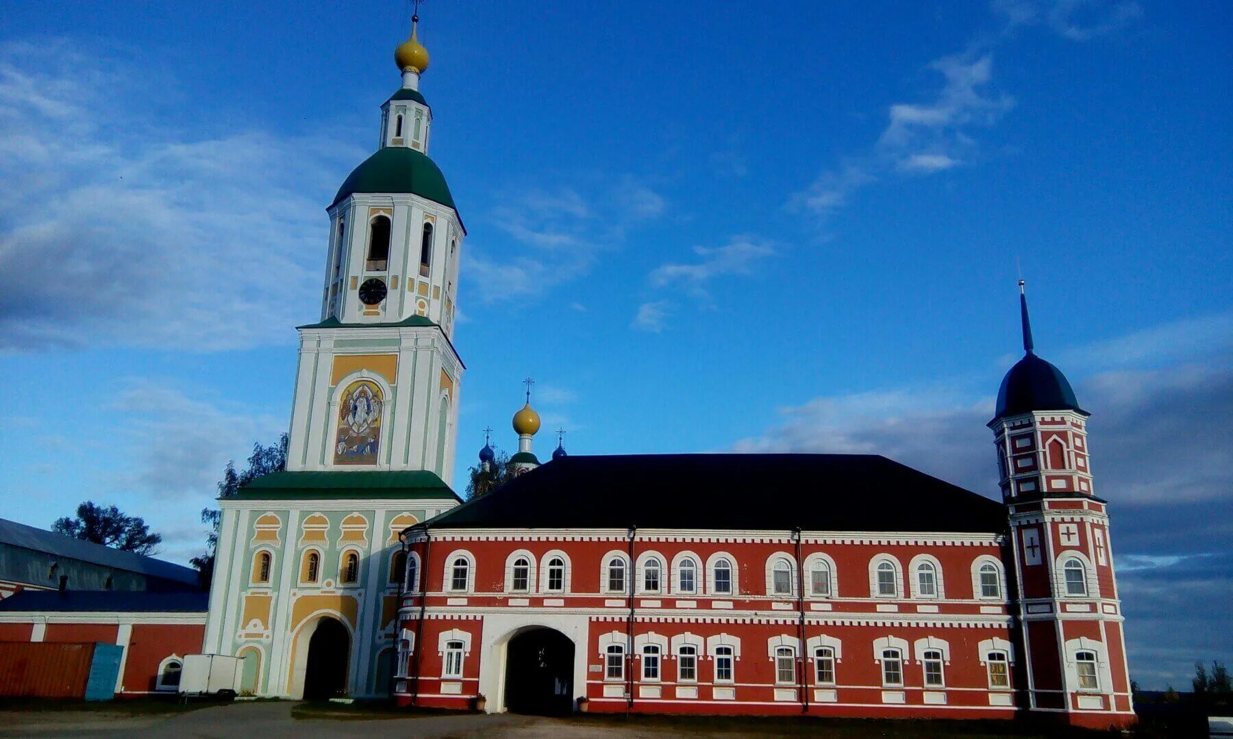
<svg viewBox="0 0 1233 739">
<path fill-rule="evenodd" d="M 462 361 L 453 345 L 466 230 L 428 158 L 419 17 L 395 50 L 401 86 L 377 150 L 327 208 L 321 319 L 300 326 L 289 470 L 454 468 Z"/>
</svg>

